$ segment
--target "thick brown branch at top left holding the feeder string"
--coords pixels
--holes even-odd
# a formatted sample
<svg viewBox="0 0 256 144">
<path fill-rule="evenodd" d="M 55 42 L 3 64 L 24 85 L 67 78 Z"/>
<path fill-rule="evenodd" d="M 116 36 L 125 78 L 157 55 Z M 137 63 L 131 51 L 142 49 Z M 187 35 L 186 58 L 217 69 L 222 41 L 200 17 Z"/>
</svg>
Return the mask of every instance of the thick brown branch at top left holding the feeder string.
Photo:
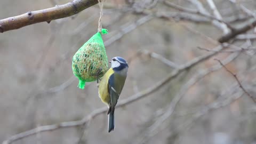
<svg viewBox="0 0 256 144">
<path fill-rule="evenodd" d="M 19 29 L 38 22 L 45 21 L 50 23 L 52 20 L 77 14 L 97 3 L 98 0 L 74 0 L 63 5 L 56 5 L 49 9 L 29 11 L 15 17 L 2 19 L 0 20 L 0 32 L 4 33 L 8 30 Z"/>
</svg>

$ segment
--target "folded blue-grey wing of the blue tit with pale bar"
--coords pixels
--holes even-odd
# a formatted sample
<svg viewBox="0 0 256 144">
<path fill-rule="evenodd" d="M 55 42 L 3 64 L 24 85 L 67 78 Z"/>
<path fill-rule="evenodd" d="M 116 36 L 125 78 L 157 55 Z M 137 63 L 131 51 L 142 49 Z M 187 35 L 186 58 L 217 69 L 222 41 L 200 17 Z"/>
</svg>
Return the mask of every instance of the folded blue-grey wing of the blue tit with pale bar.
<svg viewBox="0 0 256 144">
<path fill-rule="evenodd" d="M 121 91 L 118 89 L 118 84 L 115 85 L 115 74 L 112 74 L 108 79 L 108 91 L 111 99 L 111 111 L 114 111 L 117 100 Z"/>
</svg>

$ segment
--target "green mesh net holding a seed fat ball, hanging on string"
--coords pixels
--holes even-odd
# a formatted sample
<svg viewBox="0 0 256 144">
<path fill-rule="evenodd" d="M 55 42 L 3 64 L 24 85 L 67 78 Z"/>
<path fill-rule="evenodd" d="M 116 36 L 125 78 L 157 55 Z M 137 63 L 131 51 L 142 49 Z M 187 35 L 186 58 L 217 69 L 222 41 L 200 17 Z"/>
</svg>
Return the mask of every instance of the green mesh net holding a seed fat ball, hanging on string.
<svg viewBox="0 0 256 144">
<path fill-rule="evenodd" d="M 108 57 L 101 34 L 107 34 L 102 29 L 93 35 L 73 56 L 72 70 L 79 79 L 78 87 L 84 89 L 85 82 L 96 81 L 108 70 Z"/>
</svg>

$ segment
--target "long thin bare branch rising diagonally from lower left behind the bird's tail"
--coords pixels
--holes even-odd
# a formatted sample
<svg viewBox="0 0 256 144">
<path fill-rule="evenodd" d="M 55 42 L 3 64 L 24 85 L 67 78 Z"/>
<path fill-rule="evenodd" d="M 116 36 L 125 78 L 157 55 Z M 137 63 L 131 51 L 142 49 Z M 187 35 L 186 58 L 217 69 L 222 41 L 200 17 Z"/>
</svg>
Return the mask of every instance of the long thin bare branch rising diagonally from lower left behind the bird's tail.
<svg viewBox="0 0 256 144">
<path fill-rule="evenodd" d="M 219 51 L 223 50 L 226 47 L 220 46 L 217 49 Z M 172 73 L 170 73 L 169 75 L 166 76 L 165 79 L 163 79 L 162 81 L 157 82 L 155 85 L 148 87 L 148 89 L 140 91 L 136 94 L 133 94 L 131 97 L 121 100 L 119 101 L 119 103 L 117 104 L 116 108 L 124 106 L 124 105 L 128 105 L 134 101 L 137 101 L 139 99 L 142 99 L 144 97 L 146 97 L 147 95 L 154 93 L 155 91 L 157 91 L 158 89 L 160 89 L 163 85 L 167 84 L 169 81 L 171 81 L 173 78 L 177 77 L 179 74 L 181 74 L 183 71 L 194 67 L 195 65 L 197 65 L 198 63 L 201 63 L 211 57 L 213 57 L 213 55 L 217 54 L 217 52 L 211 52 L 209 54 L 206 55 L 202 55 L 201 57 L 197 57 L 194 60 L 191 60 L 189 62 L 187 62 L 186 64 L 182 65 L 179 69 L 175 69 L 172 71 Z M 93 119 L 94 117 L 105 113 L 108 110 L 107 107 L 102 107 L 99 109 L 96 109 L 94 111 L 92 111 L 92 113 L 90 113 L 89 115 L 85 116 L 83 119 L 79 120 L 79 121 L 70 121 L 70 122 L 62 122 L 59 124 L 52 124 L 52 125 L 45 125 L 45 126 L 39 126 L 35 129 L 32 130 L 28 130 L 16 135 L 13 135 L 12 137 L 10 137 L 9 139 L 3 141 L 3 144 L 8 144 L 8 143 L 12 143 L 14 141 L 17 141 L 19 139 L 28 137 L 29 135 L 34 135 L 38 132 L 44 132 L 44 131 L 53 131 L 53 130 L 57 130 L 60 129 L 62 127 L 74 127 L 74 126 L 81 126 L 84 125 L 85 123 L 89 122 L 91 119 Z"/>
</svg>

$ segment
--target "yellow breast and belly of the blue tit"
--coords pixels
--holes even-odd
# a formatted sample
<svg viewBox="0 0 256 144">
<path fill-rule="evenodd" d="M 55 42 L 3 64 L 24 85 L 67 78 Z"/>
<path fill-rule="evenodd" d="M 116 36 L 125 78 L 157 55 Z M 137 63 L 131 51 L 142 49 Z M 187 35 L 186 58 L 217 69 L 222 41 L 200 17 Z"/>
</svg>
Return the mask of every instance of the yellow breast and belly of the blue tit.
<svg viewBox="0 0 256 144">
<path fill-rule="evenodd" d="M 102 77 L 99 85 L 99 97 L 101 101 L 106 103 L 108 106 L 111 101 L 110 95 L 108 92 L 108 79 L 112 74 L 114 74 L 114 70 L 110 68 L 107 71 L 107 73 Z"/>
</svg>

